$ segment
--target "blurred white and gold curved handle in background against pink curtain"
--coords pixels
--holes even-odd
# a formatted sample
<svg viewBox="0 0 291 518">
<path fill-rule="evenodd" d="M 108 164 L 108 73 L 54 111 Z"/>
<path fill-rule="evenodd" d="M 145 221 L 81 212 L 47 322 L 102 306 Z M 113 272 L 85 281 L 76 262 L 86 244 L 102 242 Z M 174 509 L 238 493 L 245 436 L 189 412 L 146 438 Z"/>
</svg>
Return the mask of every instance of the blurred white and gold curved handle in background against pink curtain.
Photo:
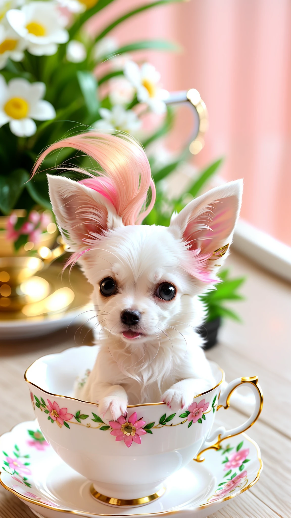
<svg viewBox="0 0 291 518">
<path fill-rule="evenodd" d="M 209 126 L 208 111 L 198 90 L 191 88 L 188 91 L 170 92 L 169 97 L 165 99 L 165 103 L 168 106 L 187 103 L 192 108 L 194 124 L 189 151 L 193 155 L 197 155 L 204 147 L 204 135 Z"/>
</svg>

